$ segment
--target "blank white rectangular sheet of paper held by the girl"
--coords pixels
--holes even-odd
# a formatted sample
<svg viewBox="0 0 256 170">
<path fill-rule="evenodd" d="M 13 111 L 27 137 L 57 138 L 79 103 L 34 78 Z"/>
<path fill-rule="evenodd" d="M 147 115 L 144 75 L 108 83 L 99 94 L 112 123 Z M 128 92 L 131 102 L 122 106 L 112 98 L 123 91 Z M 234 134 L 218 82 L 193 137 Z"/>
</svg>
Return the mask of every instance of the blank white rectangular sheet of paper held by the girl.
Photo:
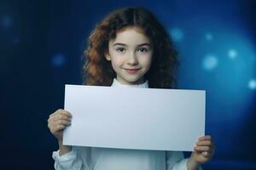
<svg viewBox="0 0 256 170">
<path fill-rule="evenodd" d="M 204 90 L 66 85 L 73 119 L 63 144 L 192 151 L 205 135 L 205 107 Z"/>
</svg>

